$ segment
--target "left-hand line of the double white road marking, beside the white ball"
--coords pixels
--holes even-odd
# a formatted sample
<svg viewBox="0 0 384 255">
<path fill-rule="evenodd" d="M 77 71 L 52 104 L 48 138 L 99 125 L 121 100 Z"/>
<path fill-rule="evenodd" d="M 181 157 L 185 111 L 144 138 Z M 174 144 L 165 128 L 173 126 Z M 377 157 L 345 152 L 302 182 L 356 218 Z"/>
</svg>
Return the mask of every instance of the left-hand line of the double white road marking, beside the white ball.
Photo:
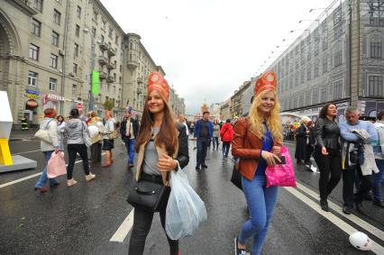
<svg viewBox="0 0 384 255">
<path fill-rule="evenodd" d="M 343 230 L 343 232 L 346 232 L 348 235 L 352 234 L 353 232 L 358 232 L 355 228 L 353 228 L 350 224 L 345 223 L 342 219 L 337 217 L 336 215 L 323 211 L 317 203 L 315 203 L 312 199 L 306 197 L 301 192 L 297 191 L 293 187 L 285 187 L 285 189 L 292 194 L 293 196 L 296 196 L 298 199 L 300 199 L 302 202 L 304 202 L 306 205 L 311 207 L 312 209 L 317 212 L 317 214 L 321 214 L 324 216 L 328 221 L 331 223 L 334 223 L 338 228 Z M 379 245 L 379 243 L 375 241 L 371 241 L 372 247 L 371 250 L 375 252 L 376 254 L 384 254 L 384 248 Z"/>
</svg>

